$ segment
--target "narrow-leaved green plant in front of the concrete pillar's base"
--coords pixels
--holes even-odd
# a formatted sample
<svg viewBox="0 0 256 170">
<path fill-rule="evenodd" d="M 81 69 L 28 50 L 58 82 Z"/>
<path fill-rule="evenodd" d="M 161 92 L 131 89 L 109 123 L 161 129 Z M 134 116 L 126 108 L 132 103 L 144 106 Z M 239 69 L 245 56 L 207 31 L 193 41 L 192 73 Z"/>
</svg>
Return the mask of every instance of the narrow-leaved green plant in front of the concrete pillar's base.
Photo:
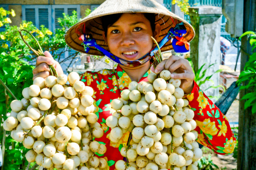
<svg viewBox="0 0 256 170">
<path fill-rule="evenodd" d="M 224 91 L 226 91 L 225 88 L 224 88 L 222 85 L 214 86 L 213 80 L 210 80 L 210 78 L 213 76 L 213 74 L 216 74 L 216 73 L 221 72 L 221 71 L 222 71 L 221 69 L 215 71 L 213 74 L 211 74 L 210 76 L 207 76 L 207 77 L 206 77 L 206 71 L 207 71 L 212 65 L 215 65 L 216 63 L 209 65 L 206 69 L 203 70 L 203 67 L 204 67 L 204 65 L 206 64 L 206 63 L 205 63 L 205 64 L 203 64 L 203 65 L 198 69 L 197 72 L 195 72 L 195 71 L 194 71 L 194 67 L 193 67 L 193 62 L 191 61 L 190 58 L 187 58 L 187 60 L 189 61 L 189 65 L 191 65 L 191 67 L 193 68 L 193 72 L 195 73 L 195 79 L 194 79 L 194 80 L 195 80 L 195 82 L 198 84 L 199 87 L 200 87 L 202 84 L 204 84 L 205 82 L 210 81 L 210 82 L 212 82 L 213 85 L 210 86 L 209 88 L 219 88 L 219 87 L 221 87 Z M 209 89 L 209 88 L 207 88 L 207 89 Z M 207 89 L 206 89 L 206 90 L 207 90 Z"/>
</svg>

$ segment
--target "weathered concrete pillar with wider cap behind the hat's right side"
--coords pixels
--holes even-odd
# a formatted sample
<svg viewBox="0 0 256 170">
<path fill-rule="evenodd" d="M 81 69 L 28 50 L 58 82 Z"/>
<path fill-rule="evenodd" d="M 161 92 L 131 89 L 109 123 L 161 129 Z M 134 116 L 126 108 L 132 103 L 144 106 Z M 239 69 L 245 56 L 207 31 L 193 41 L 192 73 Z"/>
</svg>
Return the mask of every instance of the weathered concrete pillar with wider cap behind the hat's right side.
<svg viewBox="0 0 256 170">
<path fill-rule="evenodd" d="M 204 65 L 206 69 L 211 66 L 206 76 L 210 76 L 219 69 L 219 50 L 221 35 L 221 8 L 215 6 L 195 6 L 189 8 L 190 22 L 195 29 L 195 38 L 190 42 L 190 58 L 194 64 L 194 70 L 197 70 Z M 214 74 L 211 78 L 214 86 L 219 85 L 219 73 Z M 207 96 L 219 96 L 218 88 L 210 88 L 212 82 L 207 81 L 200 86 Z M 216 102 L 213 100 L 213 102 Z"/>
</svg>

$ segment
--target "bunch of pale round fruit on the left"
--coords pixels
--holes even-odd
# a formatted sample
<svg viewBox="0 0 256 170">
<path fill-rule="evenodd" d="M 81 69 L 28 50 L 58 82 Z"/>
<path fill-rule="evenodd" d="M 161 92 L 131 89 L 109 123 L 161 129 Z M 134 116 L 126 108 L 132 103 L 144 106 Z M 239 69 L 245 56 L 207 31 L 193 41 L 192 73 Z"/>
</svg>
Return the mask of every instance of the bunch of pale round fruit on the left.
<svg viewBox="0 0 256 170">
<path fill-rule="evenodd" d="M 37 77 L 22 91 L 23 99 L 11 102 L 11 116 L 3 128 L 31 149 L 26 159 L 40 165 L 39 170 L 78 170 L 78 166 L 80 170 L 100 170 L 108 165 L 104 158 L 94 156 L 107 150 L 93 141 L 104 131 L 94 113 L 93 89 L 79 79 L 75 72 L 46 80 Z"/>
</svg>

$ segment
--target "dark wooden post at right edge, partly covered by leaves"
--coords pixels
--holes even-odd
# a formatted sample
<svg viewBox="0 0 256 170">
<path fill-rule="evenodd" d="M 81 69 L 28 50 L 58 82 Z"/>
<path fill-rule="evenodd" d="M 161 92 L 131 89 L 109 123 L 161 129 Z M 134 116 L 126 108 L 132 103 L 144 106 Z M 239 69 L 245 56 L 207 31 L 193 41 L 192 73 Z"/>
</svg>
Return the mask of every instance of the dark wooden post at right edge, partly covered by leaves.
<svg viewBox="0 0 256 170">
<path fill-rule="evenodd" d="M 256 0 L 244 0 L 244 31 L 255 31 L 256 29 Z M 245 63 L 248 61 L 248 54 L 252 54 L 251 46 L 244 36 L 241 39 L 241 71 L 244 70 Z M 254 50 L 255 52 L 255 50 Z M 245 82 L 245 85 L 248 82 Z M 251 90 L 241 90 L 239 95 L 239 127 L 238 127 L 238 170 L 256 169 L 256 114 L 252 114 L 251 107 L 244 110 L 246 100 L 242 97 L 250 93 Z"/>
</svg>

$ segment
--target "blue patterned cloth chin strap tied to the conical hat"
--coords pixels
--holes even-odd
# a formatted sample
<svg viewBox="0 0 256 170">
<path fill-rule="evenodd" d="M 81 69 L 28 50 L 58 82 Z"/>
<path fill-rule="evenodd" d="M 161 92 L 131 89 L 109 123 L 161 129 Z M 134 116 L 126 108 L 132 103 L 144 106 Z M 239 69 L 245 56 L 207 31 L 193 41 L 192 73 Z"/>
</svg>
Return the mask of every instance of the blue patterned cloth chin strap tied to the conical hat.
<svg viewBox="0 0 256 170">
<path fill-rule="evenodd" d="M 188 45 L 186 39 L 184 39 L 182 37 L 183 34 L 185 34 L 186 32 L 187 32 L 186 27 L 184 26 L 183 22 L 176 24 L 175 27 L 171 27 L 169 29 L 167 35 L 160 41 L 160 43 L 158 43 L 160 49 L 171 39 L 172 47 L 174 48 L 175 52 L 177 52 L 177 53 L 188 52 L 189 45 Z M 158 47 L 155 46 L 150 52 L 148 52 L 142 58 L 137 59 L 135 61 L 126 61 L 124 59 L 121 59 L 121 58 L 111 54 L 110 52 L 108 52 L 107 50 L 105 50 L 104 48 L 99 46 L 91 34 L 89 34 L 89 36 L 88 36 L 88 34 L 83 34 L 83 35 L 84 35 L 84 40 L 82 42 L 82 45 L 84 45 L 85 53 L 89 52 L 90 47 L 95 47 L 95 49 L 99 50 L 99 52 L 101 52 L 105 56 L 108 56 L 114 62 L 121 64 L 121 65 L 125 65 L 127 67 L 137 67 L 137 66 L 149 61 L 149 59 L 151 59 L 154 56 L 154 52 L 158 51 Z M 86 38 L 86 36 L 88 36 L 88 38 Z"/>
</svg>

